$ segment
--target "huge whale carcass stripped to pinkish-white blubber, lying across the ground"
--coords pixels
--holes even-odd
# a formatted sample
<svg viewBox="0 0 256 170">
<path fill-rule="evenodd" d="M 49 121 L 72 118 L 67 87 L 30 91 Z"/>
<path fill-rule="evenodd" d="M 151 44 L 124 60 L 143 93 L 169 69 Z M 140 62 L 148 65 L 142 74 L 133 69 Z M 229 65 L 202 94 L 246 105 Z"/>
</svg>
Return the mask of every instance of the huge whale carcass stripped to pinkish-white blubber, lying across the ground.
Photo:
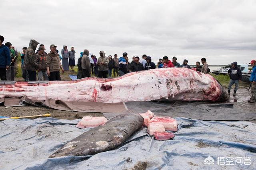
<svg viewBox="0 0 256 170">
<path fill-rule="evenodd" d="M 131 72 L 118 78 L 52 82 L 0 82 L 0 97 L 118 103 L 128 101 L 225 101 L 228 95 L 209 74 L 188 68 Z"/>
</svg>

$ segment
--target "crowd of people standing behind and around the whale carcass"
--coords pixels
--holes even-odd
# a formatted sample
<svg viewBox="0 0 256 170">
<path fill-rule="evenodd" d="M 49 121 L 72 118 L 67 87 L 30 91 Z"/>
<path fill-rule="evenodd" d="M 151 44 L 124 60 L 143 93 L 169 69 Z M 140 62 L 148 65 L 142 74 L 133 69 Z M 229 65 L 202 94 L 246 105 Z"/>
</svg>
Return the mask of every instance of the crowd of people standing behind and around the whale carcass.
<svg viewBox="0 0 256 170">
<path fill-rule="evenodd" d="M 14 80 L 15 76 L 15 63 L 18 57 L 18 52 L 14 50 L 10 42 L 4 42 L 4 37 L 0 35 L 0 78 L 1 80 Z M 70 51 L 66 45 L 63 45 L 61 50 L 61 56 L 58 54 L 56 45 L 50 45 L 50 53 L 46 53 L 45 47 L 41 44 L 36 51 L 38 46 L 36 40 L 30 40 L 29 47 L 22 48 L 21 54 L 21 68 L 22 77 L 25 81 L 35 81 L 36 72 L 38 75 L 38 80 L 61 80 L 60 70 L 62 73 L 69 70 L 74 70 L 75 66 L 75 50 L 71 47 Z M 36 52 L 35 52 L 36 51 Z M 62 60 L 62 64 L 60 61 Z M 78 74 L 77 79 L 90 77 L 92 74 L 99 78 L 108 78 L 112 76 L 112 70 L 114 76 L 123 76 L 128 72 L 136 72 L 142 70 L 150 70 L 156 68 L 168 68 L 168 67 L 183 67 L 188 69 L 197 70 L 204 74 L 210 73 L 206 59 L 202 58 L 200 62 L 196 62 L 196 66 L 191 68 L 188 64 L 188 60 L 184 59 L 183 64 L 177 62 L 177 57 L 172 57 L 172 61 L 169 60 L 167 56 L 159 59 L 157 65 L 152 62 L 151 57 L 147 55 L 142 55 L 140 57 L 132 57 L 132 61 L 129 62 L 128 54 L 125 52 L 122 57 L 118 58 L 117 54 L 114 55 L 112 59 L 111 55 L 105 56 L 104 51 L 100 51 L 100 57 L 98 59 L 92 53 L 89 53 L 88 49 L 85 49 L 80 53 L 78 59 Z M 248 102 L 256 102 L 256 61 L 252 60 L 250 62 L 252 65 L 251 72 L 251 92 L 252 98 Z M 237 66 L 237 62 L 232 63 L 232 67 L 228 71 L 230 75 L 230 83 L 228 85 L 228 94 L 230 95 L 230 90 L 233 84 L 235 84 L 233 96 L 236 96 L 236 91 L 238 90 L 238 82 L 242 79 L 242 72 Z"/>
</svg>

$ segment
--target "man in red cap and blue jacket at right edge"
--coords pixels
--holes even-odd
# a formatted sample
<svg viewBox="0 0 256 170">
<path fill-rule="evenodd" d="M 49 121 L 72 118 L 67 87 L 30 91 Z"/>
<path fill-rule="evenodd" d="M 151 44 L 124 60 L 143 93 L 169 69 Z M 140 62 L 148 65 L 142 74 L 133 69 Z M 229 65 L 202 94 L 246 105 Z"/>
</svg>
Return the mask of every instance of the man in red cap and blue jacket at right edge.
<svg viewBox="0 0 256 170">
<path fill-rule="evenodd" d="M 250 76 L 250 83 L 252 84 L 251 86 L 251 93 L 252 97 L 250 100 L 248 100 L 249 103 L 254 103 L 256 102 L 256 60 L 252 60 L 249 64 L 252 66 L 252 72 Z"/>
</svg>

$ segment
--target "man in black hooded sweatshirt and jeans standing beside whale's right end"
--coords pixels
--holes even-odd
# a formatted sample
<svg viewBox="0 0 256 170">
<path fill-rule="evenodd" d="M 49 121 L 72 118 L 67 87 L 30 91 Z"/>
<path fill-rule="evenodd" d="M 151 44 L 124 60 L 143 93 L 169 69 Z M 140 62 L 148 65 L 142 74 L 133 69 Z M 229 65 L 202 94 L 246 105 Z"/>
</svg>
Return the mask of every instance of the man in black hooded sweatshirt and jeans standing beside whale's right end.
<svg viewBox="0 0 256 170">
<path fill-rule="evenodd" d="M 232 67 L 228 70 L 230 76 L 230 82 L 228 84 L 228 95 L 230 95 L 231 86 L 235 84 L 233 96 L 236 96 L 236 91 L 238 89 L 238 82 L 242 79 L 242 72 L 237 66 L 237 62 L 232 63 Z"/>
</svg>

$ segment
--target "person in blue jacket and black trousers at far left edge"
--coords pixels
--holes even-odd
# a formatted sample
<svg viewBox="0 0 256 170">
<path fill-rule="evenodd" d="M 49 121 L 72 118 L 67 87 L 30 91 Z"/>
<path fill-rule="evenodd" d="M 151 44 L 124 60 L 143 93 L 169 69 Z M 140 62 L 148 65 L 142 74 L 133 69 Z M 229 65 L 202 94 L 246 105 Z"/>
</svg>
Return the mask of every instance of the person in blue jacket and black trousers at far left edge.
<svg viewBox="0 0 256 170">
<path fill-rule="evenodd" d="M 3 45 L 4 37 L 0 35 L 0 78 L 1 80 L 6 79 L 6 70 L 10 68 L 11 55 L 10 49 Z"/>
</svg>

